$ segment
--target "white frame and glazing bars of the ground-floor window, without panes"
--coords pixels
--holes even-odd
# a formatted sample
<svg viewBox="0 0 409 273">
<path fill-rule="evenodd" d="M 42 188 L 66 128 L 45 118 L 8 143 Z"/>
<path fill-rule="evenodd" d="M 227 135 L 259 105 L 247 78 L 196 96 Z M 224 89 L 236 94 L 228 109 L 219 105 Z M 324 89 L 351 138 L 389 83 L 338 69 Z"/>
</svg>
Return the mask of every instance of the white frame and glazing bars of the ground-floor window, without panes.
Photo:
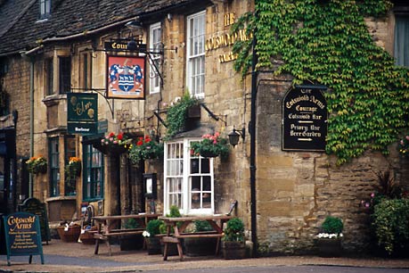
<svg viewBox="0 0 409 273">
<path fill-rule="evenodd" d="M 214 167 L 213 158 L 209 158 L 209 173 L 207 175 L 191 174 L 191 160 L 202 157 L 191 155 L 190 144 L 191 142 L 200 141 L 200 138 L 184 138 L 177 141 L 165 143 L 165 157 L 164 157 L 164 214 L 169 213 L 170 194 L 180 194 L 180 206 L 179 210 L 183 215 L 211 215 L 215 211 L 215 181 L 214 181 Z M 179 147 L 179 149 L 176 149 Z M 169 157 L 169 155 L 171 155 Z M 209 208 L 192 208 L 192 191 L 191 191 L 191 178 L 194 176 L 209 176 L 210 177 L 210 207 Z M 181 188 L 171 192 L 170 180 L 181 179 Z M 179 199 L 176 197 L 176 199 Z"/>
</svg>

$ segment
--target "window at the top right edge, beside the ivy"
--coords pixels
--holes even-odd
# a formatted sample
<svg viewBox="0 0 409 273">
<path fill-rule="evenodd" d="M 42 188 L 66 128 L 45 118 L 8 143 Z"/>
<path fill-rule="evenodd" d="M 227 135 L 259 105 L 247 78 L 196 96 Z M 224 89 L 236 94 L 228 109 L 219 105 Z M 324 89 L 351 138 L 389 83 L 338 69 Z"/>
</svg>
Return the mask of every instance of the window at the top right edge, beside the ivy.
<svg viewBox="0 0 409 273">
<path fill-rule="evenodd" d="M 396 15 L 394 45 L 397 65 L 409 67 L 409 15 Z"/>
</svg>

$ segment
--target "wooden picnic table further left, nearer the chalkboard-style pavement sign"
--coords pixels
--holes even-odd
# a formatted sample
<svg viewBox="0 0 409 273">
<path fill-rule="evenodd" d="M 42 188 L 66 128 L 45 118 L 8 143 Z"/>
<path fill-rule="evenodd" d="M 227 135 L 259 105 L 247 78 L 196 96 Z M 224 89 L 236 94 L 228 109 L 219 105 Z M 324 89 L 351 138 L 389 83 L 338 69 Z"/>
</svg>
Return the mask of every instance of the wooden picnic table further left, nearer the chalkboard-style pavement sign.
<svg viewBox="0 0 409 273">
<path fill-rule="evenodd" d="M 97 230 L 94 231 L 95 249 L 94 254 L 98 254 L 100 240 L 108 245 L 110 251 L 110 237 L 112 236 L 130 236 L 143 234 L 146 225 L 151 219 L 158 219 L 160 214 L 139 213 L 128 215 L 110 215 L 93 217 Z M 137 228 L 119 228 L 119 224 L 124 219 L 135 219 L 139 223 Z"/>
</svg>

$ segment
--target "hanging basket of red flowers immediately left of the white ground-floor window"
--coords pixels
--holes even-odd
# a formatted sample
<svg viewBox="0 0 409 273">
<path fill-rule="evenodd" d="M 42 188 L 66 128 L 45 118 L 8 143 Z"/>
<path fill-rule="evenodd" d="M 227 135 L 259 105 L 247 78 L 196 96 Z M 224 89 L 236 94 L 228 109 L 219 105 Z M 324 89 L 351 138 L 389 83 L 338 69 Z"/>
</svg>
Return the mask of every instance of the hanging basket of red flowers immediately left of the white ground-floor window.
<svg viewBox="0 0 409 273">
<path fill-rule="evenodd" d="M 129 160 L 138 164 L 147 159 L 159 159 L 163 155 L 163 144 L 150 136 L 139 137 L 135 145 L 130 145 Z"/>
</svg>

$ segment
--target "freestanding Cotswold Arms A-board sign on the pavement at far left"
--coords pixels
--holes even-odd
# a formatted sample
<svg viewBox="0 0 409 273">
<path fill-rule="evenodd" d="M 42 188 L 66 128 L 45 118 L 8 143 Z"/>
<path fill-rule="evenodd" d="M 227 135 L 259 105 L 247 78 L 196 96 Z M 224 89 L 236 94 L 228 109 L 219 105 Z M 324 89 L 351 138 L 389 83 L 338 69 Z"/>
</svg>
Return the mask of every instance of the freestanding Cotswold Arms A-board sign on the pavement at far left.
<svg viewBox="0 0 409 273">
<path fill-rule="evenodd" d="M 4 216 L 3 220 L 7 264 L 10 265 L 10 256 L 29 256 L 31 263 L 32 255 L 40 255 L 41 263 L 44 264 L 38 216 L 17 212 Z"/>
</svg>

